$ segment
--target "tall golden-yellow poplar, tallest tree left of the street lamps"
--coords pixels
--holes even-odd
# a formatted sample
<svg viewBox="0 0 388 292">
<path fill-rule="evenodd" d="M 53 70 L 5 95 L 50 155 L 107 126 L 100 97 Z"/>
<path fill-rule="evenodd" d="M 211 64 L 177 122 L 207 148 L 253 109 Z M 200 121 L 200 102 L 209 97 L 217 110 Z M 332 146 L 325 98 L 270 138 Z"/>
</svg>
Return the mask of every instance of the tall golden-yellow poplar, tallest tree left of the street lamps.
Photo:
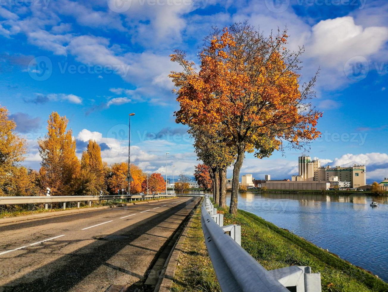
<svg viewBox="0 0 388 292">
<path fill-rule="evenodd" d="M 40 175 L 43 187 L 55 195 L 74 195 L 80 175 L 80 162 L 76 156 L 76 143 L 69 120 L 53 111 L 47 121 L 47 134 L 38 139 L 42 158 Z"/>
</svg>

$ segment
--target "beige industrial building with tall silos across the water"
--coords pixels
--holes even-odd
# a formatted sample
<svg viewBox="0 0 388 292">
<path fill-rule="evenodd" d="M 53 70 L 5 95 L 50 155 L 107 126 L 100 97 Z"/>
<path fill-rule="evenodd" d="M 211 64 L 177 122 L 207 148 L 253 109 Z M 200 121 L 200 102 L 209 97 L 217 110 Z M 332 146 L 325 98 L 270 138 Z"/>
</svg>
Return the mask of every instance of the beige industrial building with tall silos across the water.
<svg viewBox="0 0 388 292">
<path fill-rule="evenodd" d="M 292 176 L 291 181 L 330 181 L 330 177 L 338 177 L 338 182 L 350 182 L 350 188 L 366 185 L 365 165 L 351 167 L 321 167 L 319 160 L 311 160 L 310 156 L 300 156 L 298 161 L 299 175 Z M 342 184 L 342 183 L 341 183 Z"/>
</svg>

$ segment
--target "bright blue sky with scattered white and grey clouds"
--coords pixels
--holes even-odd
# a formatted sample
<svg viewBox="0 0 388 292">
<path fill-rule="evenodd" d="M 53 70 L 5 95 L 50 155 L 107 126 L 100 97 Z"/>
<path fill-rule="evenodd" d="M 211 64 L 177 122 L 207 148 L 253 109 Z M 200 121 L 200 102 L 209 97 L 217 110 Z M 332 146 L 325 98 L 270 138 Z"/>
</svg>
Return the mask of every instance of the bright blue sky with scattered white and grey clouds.
<svg viewBox="0 0 388 292">
<path fill-rule="evenodd" d="M 103 159 L 126 160 L 128 113 L 132 162 L 144 171 L 192 175 L 197 163 L 167 77 L 168 57 L 197 48 L 211 26 L 248 19 L 269 33 L 289 29 L 289 47 L 304 45 L 303 78 L 317 68 L 322 138 L 309 151 L 247 155 L 241 174 L 290 178 L 298 156 L 322 164 L 367 165 L 367 180 L 388 177 L 388 2 L 372 0 L 3 0 L 0 2 L 0 104 L 26 137 L 24 165 L 39 168 L 37 137 L 52 111 L 69 118 L 77 153 L 92 138 Z M 232 174 L 231 170 L 228 176 Z"/>
</svg>

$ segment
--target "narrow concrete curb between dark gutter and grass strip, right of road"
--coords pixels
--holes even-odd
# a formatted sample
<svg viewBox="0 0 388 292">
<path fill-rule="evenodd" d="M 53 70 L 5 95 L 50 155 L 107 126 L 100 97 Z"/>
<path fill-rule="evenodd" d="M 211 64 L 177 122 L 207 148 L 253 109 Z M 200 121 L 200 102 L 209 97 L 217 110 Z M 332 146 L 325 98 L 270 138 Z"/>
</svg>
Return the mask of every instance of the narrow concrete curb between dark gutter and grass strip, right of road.
<svg viewBox="0 0 388 292">
<path fill-rule="evenodd" d="M 178 258 L 179 258 L 180 252 L 182 250 L 183 242 L 185 241 L 185 239 L 187 237 L 187 233 L 189 232 L 190 226 L 193 222 L 192 216 L 196 212 L 196 210 L 197 210 L 198 206 L 201 204 L 201 202 L 202 202 L 202 200 L 199 200 L 199 202 L 197 203 L 197 205 L 193 209 L 194 212 L 192 212 L 192 214 L 189 215 L 189 216 L 191 216 L 189 222 L 187 222 L 185 229 L 183 230 L 182 234 L 180 235 L 178 241 L 175 243 L 175 246 L 171 250 L 169 257 L 166 260 L 165 267 L 163 268 L 165 270 L 164 275 L 163 275 L 163 280 L 161 281 L 159 287 L 158 287 L 158 285 L 156 285 L 154 292 L 170 292 L 171 291 L 172 281 L 174 279 L 175 271 L 177 269 Z"/>
</svg>

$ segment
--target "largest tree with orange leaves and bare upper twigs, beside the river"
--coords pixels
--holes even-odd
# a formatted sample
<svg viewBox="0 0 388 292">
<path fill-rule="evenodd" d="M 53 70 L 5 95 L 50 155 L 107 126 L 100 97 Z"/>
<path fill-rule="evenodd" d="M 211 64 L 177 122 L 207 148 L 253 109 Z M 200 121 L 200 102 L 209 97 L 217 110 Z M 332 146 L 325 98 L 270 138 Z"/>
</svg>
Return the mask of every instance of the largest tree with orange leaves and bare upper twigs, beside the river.
<svg viewBox="0 0 388 292">
<path fill-rule="evenodd" d="M 286 146 L 303 148 L 320 135 L 316 125 L 322 113 L 309 101 L 317 74 L 300 85 L 304 48 L 291 52 L 287 38 L 287 30 L 265 37 L 248 23 L 237 23 L 222 31 L 215 28 L 205 39 L 199 72 L 184 52 L 171 55 L 184 68 L 170 74 L 178 88 L 176 122 L 220 124 L 236 147 L 231 214 L 237 214 L 245 152 L 268 157 Z"/>
</svg>

